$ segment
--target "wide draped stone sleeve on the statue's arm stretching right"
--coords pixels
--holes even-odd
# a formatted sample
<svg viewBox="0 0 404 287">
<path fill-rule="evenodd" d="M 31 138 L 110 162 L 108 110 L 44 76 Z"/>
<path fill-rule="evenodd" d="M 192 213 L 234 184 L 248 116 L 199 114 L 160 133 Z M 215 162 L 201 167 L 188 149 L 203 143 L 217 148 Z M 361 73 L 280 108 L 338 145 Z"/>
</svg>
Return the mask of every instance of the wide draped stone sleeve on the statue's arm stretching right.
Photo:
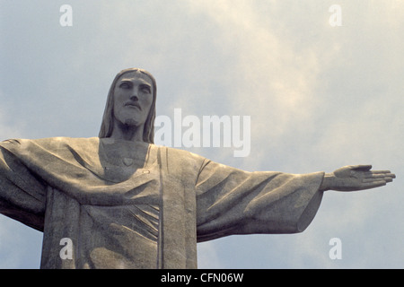
<svg viewBox="0 0 404 287">
<path fill-rule="evenodd" d="M 321 204 L 323 177 L 323 172 L 248 172 L 204 161 L 196 183 L 198 242 L 302 232 Z"/>
</svg>

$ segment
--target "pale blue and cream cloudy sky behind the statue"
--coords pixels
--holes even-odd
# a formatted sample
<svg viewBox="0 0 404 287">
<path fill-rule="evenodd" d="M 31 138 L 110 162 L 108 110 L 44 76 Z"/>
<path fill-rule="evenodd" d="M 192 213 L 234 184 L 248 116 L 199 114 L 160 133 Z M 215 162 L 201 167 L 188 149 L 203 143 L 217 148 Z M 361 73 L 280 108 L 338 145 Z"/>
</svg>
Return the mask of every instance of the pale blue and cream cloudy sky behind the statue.
<svg viewBox="0 0 404 287">
<path fill-rule="evenodd" d="M 402 1 L 0 4 L 0 140 L 97 136 L 115 74 L 141 67 L 156 78 L 160 118 L 250 118 L 245 156 L 235 145 L 184 150 L 249 171 L 372 164 L 397 175 L 327 191 L 303 233 L 200 243 L 199 268 L 404 267 Z M 332 239 L 341 257 L 331 258 Z M 0 215 L 0 268 L 39 268 L 41 243 L 40 231 Z"/>
</svg>

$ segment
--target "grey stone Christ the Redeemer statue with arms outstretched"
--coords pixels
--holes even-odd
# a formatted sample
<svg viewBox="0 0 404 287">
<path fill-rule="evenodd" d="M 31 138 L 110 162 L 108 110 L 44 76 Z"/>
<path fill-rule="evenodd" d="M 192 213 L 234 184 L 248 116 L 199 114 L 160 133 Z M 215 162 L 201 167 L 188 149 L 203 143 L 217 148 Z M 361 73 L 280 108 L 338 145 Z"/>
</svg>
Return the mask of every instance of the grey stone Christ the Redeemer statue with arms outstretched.
<svg viewBox="0 0 404 287">
<path fill-rule="evenodd" d="M 156 83 L 127 69 L 99 137 L 0 143 L 0 213 L 43 231 L 41 268 L 197 268 L 197 242 L 302 232 L 326 190 L 381 187 L 370 165 L 247 172 L 154 145 Z M 60 256 L 70 239 L 72 257 Z"/>
</svg>

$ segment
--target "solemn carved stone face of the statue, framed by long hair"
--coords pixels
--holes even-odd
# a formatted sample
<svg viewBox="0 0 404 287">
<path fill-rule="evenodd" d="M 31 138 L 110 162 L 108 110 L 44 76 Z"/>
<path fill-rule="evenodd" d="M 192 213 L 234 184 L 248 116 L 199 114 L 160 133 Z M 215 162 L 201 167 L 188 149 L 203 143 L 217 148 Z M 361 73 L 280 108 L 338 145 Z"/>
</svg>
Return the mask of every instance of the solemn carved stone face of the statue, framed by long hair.
<svg viewBox="0 0 404 287">
<path fill-rule="evenodd" d="M 145 124 L 153 102 L 153 82 L 145 74 L 122 74 L 114 88 L 114 117 L 126 126 Z"/>
</svg>

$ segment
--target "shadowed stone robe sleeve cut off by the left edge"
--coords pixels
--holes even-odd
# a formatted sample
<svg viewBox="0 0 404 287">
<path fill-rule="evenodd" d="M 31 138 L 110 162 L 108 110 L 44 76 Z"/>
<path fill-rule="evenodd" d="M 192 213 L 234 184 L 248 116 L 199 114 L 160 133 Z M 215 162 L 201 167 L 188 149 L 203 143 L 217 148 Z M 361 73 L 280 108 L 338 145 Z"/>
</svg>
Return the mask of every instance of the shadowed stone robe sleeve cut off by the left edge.
<svg viewBox="0 0 404 287">
<path fill-rule="evenodd" d="M 0 213 L 43 230 L 46 184 L 10 152 L 17 140 L 0 143 Z"/>
</svg>

